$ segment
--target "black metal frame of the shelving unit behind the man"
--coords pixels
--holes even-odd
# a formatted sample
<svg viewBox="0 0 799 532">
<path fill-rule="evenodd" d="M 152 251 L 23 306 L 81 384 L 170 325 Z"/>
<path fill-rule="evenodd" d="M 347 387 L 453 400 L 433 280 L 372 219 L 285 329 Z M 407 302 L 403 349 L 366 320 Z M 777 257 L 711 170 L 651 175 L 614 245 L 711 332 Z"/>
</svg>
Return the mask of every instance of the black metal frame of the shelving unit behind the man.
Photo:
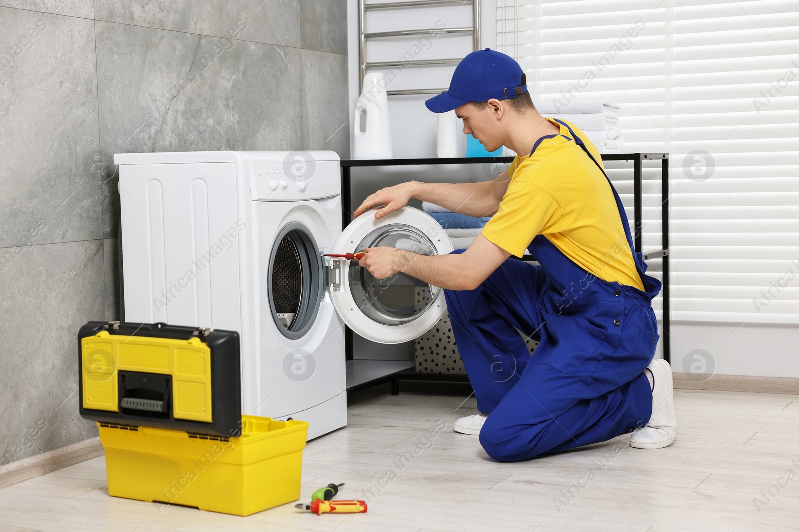
<svg viewBox="0 0 799 532">
<path fill-rule="evenodd" d="M 370 167 L 370 166 L 400 166 L 409 164 L 479 164 L 479 163 L 510 163 L 513 157 L 426 157 L 426 158 L 412 158 L 412 159 L 351 159 L 341 161 L 341 223 L 342 227 L 347 227 L 352 222 L 352 213 L 348 211 L 351 200 L 350 183 L 352 179 L 352 167 Z M 661 187 L 661 222 L 662 222 L 662 247 L 657 250 L 650 250 L 643 253 L 644 260 L 652 258 L 663 259 L 663 319 L 662 319 L 662 342 L 663 342 L 663 358 L 671 361 L 671 319 L 670 319 L 670 283 L 669 283 L 669 154 L 668 153 L 605 153 L 602 154 L 603 161 L 610 160 L 623 160 L 632 161 L 633 163 L 633 211 L 634 211 L 634 227 L 630 227 L 633 232 L 633 243 L 636 251 L 643 251 L 643 234 L 642 228 L 642 212 L 643 212 L 643 194 L 642 194 L 642 174 L 643 174 L 643 161 L 644 160 L 659 160 L 661 163 L 662 171 L 662 187 Z M 522 260 L 532 260 L 531 255 L 525 255 Z M 352 330 L 344 327 L 344 349 L 347 360 L 352 360 Z M 369 383 L 359 384 L 356 388 L 348 390 L 349 392 L 360 391 L 361 389 L 382 384 L 384 382 L 392 383 L 392 395 L 399 393 L 398 380 L 435 380 L 435 381 L 449 381 L 449 382 L 468 382 L 467 376 L 457 375 L 442 375 L 431 373 L 417 373 L 415 369 L 407 369 L 401 372 L 395 372 L 390 375 L 381 376 L 376 380 Z"/>
</svg>

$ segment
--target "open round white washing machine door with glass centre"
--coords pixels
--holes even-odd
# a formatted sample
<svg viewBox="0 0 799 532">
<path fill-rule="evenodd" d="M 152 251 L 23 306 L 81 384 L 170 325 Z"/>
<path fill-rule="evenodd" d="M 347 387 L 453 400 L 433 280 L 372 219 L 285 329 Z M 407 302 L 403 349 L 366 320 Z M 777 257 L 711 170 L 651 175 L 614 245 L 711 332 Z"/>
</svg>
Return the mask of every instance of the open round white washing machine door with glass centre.
<svg viewBox="0 0 799 532">
<path fill-rule="evenodd" d="M 352 221 L 332 253 L 390 246 L 424 255 L 448 254 L 452 242 L 443 228 L 419 209 L 404 207 L 376 220 L 367 211 Z M 330 299 L 350 329 L 369 340 L 396 344 L 427 333 L 443 316 L 443 290 L 407 274 L 377 279 L 357 261 L 329 258 Z"/>
</svg>

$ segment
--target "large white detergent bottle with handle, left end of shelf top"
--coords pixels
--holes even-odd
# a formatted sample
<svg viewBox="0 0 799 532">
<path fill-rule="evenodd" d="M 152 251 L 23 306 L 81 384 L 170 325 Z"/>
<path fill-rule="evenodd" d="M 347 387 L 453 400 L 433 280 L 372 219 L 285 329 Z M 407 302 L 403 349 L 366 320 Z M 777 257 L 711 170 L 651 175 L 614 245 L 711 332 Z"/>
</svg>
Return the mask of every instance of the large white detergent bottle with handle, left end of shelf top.
<svg viewBox="0 0 799 532">
<path fill-rule="evenodd" d="M 392 130 L 383 73 L 364 76 L 364 90 L 355 103 L 353 159 L 391 159 Z"/>
</svg>

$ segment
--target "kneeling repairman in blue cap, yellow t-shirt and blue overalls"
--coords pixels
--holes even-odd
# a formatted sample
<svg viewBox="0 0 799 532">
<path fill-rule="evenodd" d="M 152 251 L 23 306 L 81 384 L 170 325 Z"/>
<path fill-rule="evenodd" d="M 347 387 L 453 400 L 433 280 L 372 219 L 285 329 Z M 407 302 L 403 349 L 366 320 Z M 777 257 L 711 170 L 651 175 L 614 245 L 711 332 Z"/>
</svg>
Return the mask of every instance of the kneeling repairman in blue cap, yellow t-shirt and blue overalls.
<svg viewBox="0 0 799 532">
<path fill-rule="evenodd" d="M 480 412 L 455 431 L 479 435 L 491 458 L 507 462 L 628 432 L 633 447 L 669 445 L 677 433 L 671 370 L 653 360 L 650 305 L 661 282 L 632 251 L 597 148 L 573 124 L 541 116 L 519 64 L 490 49 L 465 57 L 427 108 L 455 109 L 463 132 L 488 151 L 519 154 L 493 181 L 404 183 L 354 213 L 384 204 L 380 219 L 413 197 L 491 216 L 467 250 L 427 257 L 383 246 L 359 262 L 376 278 L 403 271 L 445 290 Z M 510 258 L 528 248 L 540 266 Z M 532 356 L 519 331 L 539 340 Z"/>
</svg>

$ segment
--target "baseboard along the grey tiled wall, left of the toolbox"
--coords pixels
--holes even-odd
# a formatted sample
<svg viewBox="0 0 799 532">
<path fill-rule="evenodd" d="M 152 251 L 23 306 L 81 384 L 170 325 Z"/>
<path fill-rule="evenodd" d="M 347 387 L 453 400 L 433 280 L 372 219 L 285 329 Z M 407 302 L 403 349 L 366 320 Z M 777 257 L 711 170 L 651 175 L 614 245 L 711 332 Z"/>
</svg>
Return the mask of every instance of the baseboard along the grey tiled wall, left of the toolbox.
<svg viewBox="0 0 799 532">
<path fill-rule="evenodd" d="M 95 436 L 66 447 L 29 456 L 0 467 L 0 488 L 34 479 L 51 471 L 97 458 L 102 454 L 100 436 Z"/>
</svg>

